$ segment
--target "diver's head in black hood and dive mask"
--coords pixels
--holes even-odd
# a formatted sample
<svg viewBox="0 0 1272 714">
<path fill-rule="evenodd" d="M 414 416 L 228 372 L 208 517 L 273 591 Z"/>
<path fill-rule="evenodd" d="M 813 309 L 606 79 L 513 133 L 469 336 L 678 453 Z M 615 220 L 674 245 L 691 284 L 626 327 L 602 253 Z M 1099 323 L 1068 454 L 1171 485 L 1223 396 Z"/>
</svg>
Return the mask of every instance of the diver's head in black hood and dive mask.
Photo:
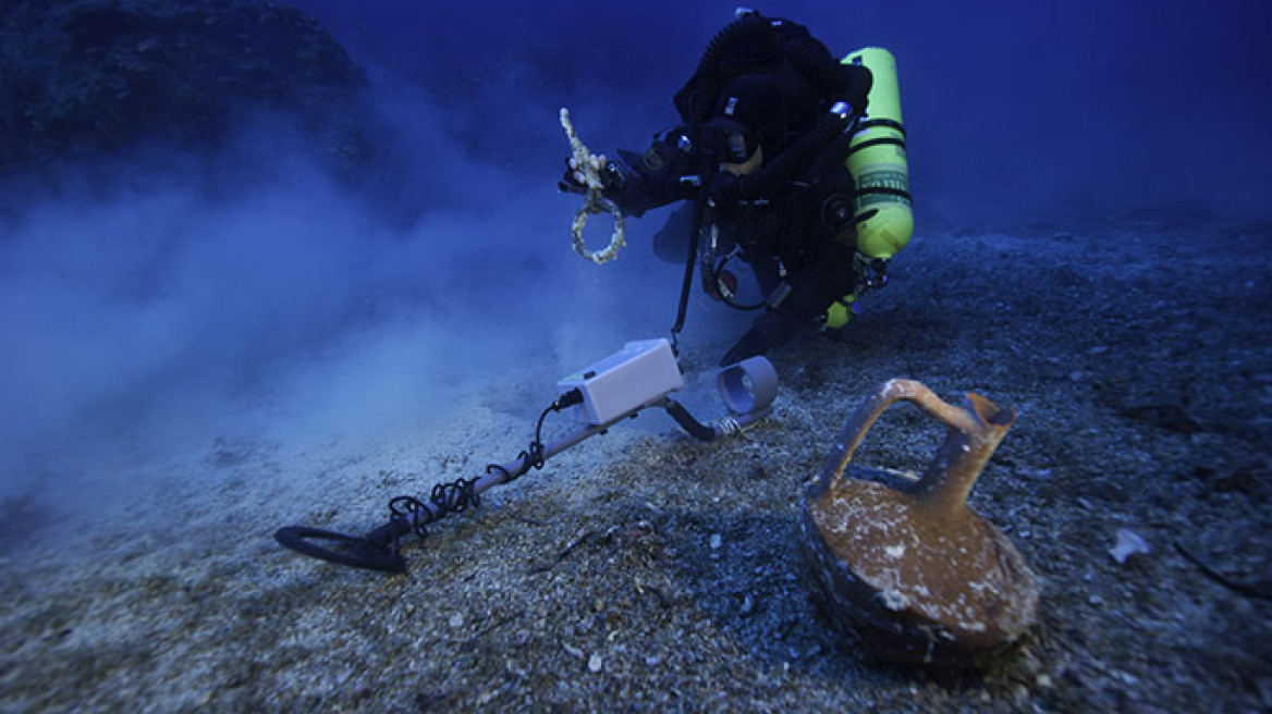
<svg viewBox="0 0 1272 714">
<path fill-rule="evenodd" d="M 715 114 L 703 125 L 710 146 L 722 164 L 745 164 L 761 146 L 780 135 L 782 95 L 766 75 L 742 75 L 725 86 Z"/>
</svg>

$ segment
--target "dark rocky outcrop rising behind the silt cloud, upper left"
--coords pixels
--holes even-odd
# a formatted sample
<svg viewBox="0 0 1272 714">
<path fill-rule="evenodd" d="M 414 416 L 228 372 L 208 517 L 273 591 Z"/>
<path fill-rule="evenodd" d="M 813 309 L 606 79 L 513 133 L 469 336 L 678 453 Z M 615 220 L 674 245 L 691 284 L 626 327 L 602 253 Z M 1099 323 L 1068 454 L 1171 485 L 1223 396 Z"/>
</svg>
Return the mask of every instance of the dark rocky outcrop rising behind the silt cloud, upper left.
<svg viewBox="0 0 1272 714">
<path fill-rule="evenodd" d="M 257 108 L 294 113 L 321 141 L 347 142 L 340 109 L 363 84 L 345 50 L 285 4 L 6 3 L 0 6 L 0 170 L 109 155 L 141 142 L 211 146 L 235 117 Z"/>
</svg>

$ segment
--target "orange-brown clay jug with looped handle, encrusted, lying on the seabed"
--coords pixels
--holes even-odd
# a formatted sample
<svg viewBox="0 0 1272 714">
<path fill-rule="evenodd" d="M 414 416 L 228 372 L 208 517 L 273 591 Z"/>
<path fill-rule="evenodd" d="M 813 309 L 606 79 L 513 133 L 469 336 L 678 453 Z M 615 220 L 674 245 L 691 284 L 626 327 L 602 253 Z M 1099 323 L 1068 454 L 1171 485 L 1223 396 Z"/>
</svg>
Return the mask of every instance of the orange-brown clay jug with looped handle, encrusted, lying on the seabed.
<svg viewBox="0 0 1272 714">
<path fill-rule="evenodd" d="M 848 466 L 898 400 L 949 426 L 921 478 Z M 893 663 L 978 664 L 1035 623 L 1038 583 L 1024 556 L 965 504 L 1015 410 L 968 394 L 941 401 L 917 381 L 883 384 L 848 418 L 805 492 L 803 545 L 838 630 Z M 848 474 L 846 474 L 846 470 Z"/>
</svg>

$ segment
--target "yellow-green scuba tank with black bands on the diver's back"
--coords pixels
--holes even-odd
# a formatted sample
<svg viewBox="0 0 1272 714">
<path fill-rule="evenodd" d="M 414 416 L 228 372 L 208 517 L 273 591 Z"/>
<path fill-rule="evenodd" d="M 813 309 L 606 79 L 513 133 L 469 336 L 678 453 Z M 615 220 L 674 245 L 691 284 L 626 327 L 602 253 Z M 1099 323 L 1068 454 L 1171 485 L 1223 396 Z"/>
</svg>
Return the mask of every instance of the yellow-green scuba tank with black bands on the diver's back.
<svg viewBox="0 0 1272 714">
<path fill-rule="evenodd" d="M 897 60 L 881 47 L 865 47 L 850 53 L 842 62 L 864 65 L 874 76 L 866 114 L 852 135 L 846 161 L 856 188 L 856 249 L 870 259 L 888 259 L 901 252 L 915 232 Z M 826 327 L 836 329 L 847 324 L 856 299 L 857 295 L 852 293 L 831 305 L 826 313 Z"/>
</svg>

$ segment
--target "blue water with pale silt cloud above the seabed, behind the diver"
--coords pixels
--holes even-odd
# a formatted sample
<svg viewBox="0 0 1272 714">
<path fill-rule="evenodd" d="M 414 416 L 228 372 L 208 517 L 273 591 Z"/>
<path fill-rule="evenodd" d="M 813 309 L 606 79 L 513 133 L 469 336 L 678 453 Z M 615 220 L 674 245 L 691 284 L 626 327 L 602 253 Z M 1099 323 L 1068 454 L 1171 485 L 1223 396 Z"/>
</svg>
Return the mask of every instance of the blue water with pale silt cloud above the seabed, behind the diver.
<svg viewBox="0 0 1272 714">
<path fill-rule="evenodd" d="M 252 177 L 242 192 L 210 196 L 179 154 L 158 184 L 11 189 L 0 495 L 111 490 L 123 483 L 111 465 L 156 443 L 305 442 L 443 418 L 454 390 L 528 363 L 565 375 L 665 334 L 679 268 L 651 257 L 656 217 L 614 264 L 569 252 L 576 199 L 555 187 L 557 111 L 598 151 L 642 147 L 674 119 L 672 94 L 733 4 L 296 4 L 366 67 L 401 173 L 368 201 L 252 130 L 234 158 Z M 1272 213 L 1266 3 L 758 9 L 836 53 L 894 52 L 916 240 Z M 719 352 L 742 324 L 696 311 L 688 344 Z M 532 414 L 552 382 L 525 389 L 542 396 L 527 398 Z"/>
</svg>

